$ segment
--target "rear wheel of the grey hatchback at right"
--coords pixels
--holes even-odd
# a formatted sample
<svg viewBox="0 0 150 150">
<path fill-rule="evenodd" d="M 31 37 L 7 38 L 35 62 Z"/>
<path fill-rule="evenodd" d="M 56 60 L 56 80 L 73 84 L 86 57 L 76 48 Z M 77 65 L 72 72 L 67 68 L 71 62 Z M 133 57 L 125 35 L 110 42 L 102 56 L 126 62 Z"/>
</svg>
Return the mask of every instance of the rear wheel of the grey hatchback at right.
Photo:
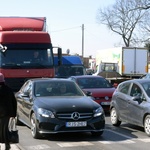
<svg viewBox="0 0 150 150">
<path fill-rule="evenodd" d="M 112 108 L 110 111 L 110 119 L 113 126 L 120 126 L 121 121 L 118 118 L 118 114 L 115 108 Z"/>
</svg>

